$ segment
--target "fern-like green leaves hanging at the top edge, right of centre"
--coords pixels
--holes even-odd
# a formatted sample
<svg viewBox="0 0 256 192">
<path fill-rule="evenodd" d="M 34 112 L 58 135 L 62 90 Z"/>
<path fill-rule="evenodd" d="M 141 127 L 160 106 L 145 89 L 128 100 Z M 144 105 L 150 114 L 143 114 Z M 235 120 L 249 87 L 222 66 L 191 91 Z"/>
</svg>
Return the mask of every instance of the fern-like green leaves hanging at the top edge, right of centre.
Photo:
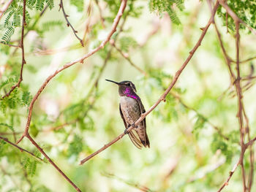
<svg viewBox="0 0 256 192">
<path fill-rule="evenodd" d="M 184 0 L 149 0 L 148 7 L 151 12 L 156 12 L 162 16 L 163 12 L 167 12 L 170 20 L 176 25 L 181 24 L 178 16 L 176 15 L 173 5 L 176 5 L 181 11 L 184 9 Z"/>
</svg>

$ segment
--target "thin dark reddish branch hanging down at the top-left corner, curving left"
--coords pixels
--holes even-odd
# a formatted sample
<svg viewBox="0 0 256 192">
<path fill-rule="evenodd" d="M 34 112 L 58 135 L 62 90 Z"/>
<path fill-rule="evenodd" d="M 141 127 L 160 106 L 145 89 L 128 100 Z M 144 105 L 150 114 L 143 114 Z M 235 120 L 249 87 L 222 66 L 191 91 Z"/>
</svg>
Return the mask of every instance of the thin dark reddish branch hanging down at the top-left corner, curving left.
<svg viewBox="0 0 256 192">
<path fill-rule="evenodd" d="M 24 66 L 24 64 L 26 64 L 25 53 L 24 53 L 24 45 L 23 45 L 25 26 L 26 26 L 26 0 L 23 0 L 23 19 L 22 19 L 20 45 L 18 46 L 18 47 L 21 48 L 21 53 L 22 53 L 21 67 L 20 67 L 20 78 L 19 78 L 17 84 L 13 85 L 12 88 L 10 89 L 10 91 L 8 93 L 6 93 L 4 96 L 2 96 L 1 99 L 4 99 L 5 97 L 10 96 L 10 93 L 12 93 L 12 91 L 14 91 L 15 88 L 20 87 L 20 82 L 22 82 L 22 80 L 23 80 L 23 66 Z M 16 48 L 18 48 L 18 47 L 16 47 Z"/>
</svg>

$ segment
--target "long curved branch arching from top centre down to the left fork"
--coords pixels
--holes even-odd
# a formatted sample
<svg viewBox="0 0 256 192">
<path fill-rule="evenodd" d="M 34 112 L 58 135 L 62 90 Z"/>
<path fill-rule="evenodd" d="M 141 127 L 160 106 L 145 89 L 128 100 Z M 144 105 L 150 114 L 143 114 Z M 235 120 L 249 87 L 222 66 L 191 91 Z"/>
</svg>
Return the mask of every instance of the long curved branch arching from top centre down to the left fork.
<svg viewBox="0 0 256 192">
<path fill-rule="evenodd" d="M 114 34 L 114 32 L 116 31 L 116 27 L 119 23 L 119 20 L 121 19 L 121 16 L 123 15 L 124 9 L 127 5 L 127 0 L 122 0 L 121 1 L 121 5 L 120 8 L 118 10 L 118 13 L 116 15 L 116 18 L 113 21 L 113 26 L 111 28 L 110 33 L 108 34 L 108 37 L 98 46 L 96 47 L 94 50 L 91 50 L 91 52 L 87 53 L 86 55 L 83 55 L 83 57 L 76 59 L 75 61 L 71 61 L 68 64 L 65 64 L 64 66 L 62 66 L 61 68 L 57 69 L 56 72 L 54 72 L 53 74 L 51 74 L 46 80 L 45 82 L 43 82 L 43 84 L 41 85 L 41 87 L 39 88 L 39 90 L 37 91 L 37 93 L 34 95 L 33 99 L 31 100 L 31 103 L 29 105 L 29 116 L 28 116 L 28 120 L 26 123 L 26 128 L 25 131 L 22 135 L 22 137 L 20 137 L 20 139 L 18 139 L 19 143 L 24 137 L 26 137 L 27 135 L 29 135 L 29 126 L 30 126 L 30 122 L 31 122 L 31 115 L 32 115 L 32 110 L 34 107 L 34 102 L 37 101 L 39 95 L 42 93 L 42 91 L 45 89 L 46 85 L 48 85 L 48 82 L 50 82 L 50 80 L 53 79 L 53 77 L 56 76 L 56 74 L 59 74 L 60 72 L 62 72 L 64 69 L 69 68 L 70 66 L 73 66 L 74 64 L 77 63 L 82 63 L 86 58 L 89 58 L 91 55 L 94 55 L 94 53 L 97 53 L 97 51 L 101 50 L 109 41 L 110 38 L 112 37 L 112 35 Z"/>
</svg>

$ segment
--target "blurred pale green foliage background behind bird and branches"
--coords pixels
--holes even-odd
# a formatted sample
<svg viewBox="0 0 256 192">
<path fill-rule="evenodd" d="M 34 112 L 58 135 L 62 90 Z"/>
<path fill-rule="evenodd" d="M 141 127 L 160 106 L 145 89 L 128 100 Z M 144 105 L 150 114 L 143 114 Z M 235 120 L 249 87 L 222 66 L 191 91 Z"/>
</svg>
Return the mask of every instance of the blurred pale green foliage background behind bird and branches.
<svg viewBox="0 0 256 192">
<path fill-rule="evenodd" d="M 174 22 L 165 9 L 156 14 L 152 2 L 129 0 L 113 35 L 116 47 L 146 75 L 108 44 L 83 64 L 75 64 L 54 77 L 34 105 L 29 133 L 82 191 L 217 191 L 238 161 L 236 91 L 230 88 L 217 34 L 210 26 L 166 102 L 146 117 L 151 147 L 138 150 L 125 136 L 79 166 L 80 160 L 124 131 L 118 111 L 118 88 L 105 79 L 134 82 L 147 110 L 165 91 L 211 15 L 207 1 L 187 0 L 181 4 L 184 9 L 173 4 L 173 17 L 178 19 Z M 22 1 L 15 3 L 22 5 Z M 12 134 L 4 133 L 15 131 L 16 138 L 23 133 L 29 102 L 42 82 L 59 66 L 80 58 L 105 39 L 120 1 L 64 1 L 69 22 L 78 30 L 85 47 L 67 27 L 59 1 L 54 1 L 54 7 L 45 9 L 42 16 L 36 4 L 28 9 L 21 87 L 0 101 L 0 132 L 12 142 Z M 7 14 L 1 24 L 6 18 Z M 226 33 L 222 18 L 216 16 L 216 22 L 228 53 L 236 58 L 234 32 L 230 29 Z M 7 30 L 3 25 L 1 37 Z M 19 38 L 17 26 L 9 43 L 18 45 L 15 40 Z M 255 42 L 253 34 L 241 31 L 241 60 L 255 56 Z M 1 96 L 19 78 L 21 54 L 15 49 L 0 45 Z M 241 76 L 255 74 L 252 66 L 253 60 L 241 64 Z M 249 86 L 244 88 L 244 104 L 252 137 L 256 134 L 254 83 L 255 80 L 242 82 Z M 19 145 L 43 158 L 29 139 Z M 248 172 L 248 151 L 244 166 Z M 2 140 L 0 168 L 0 191 L 75 191 L 47 161 L 37 161 Z M 242 188 L 238 167 L 223 191 Z M 255 189 L 253 185 L 252 191 Z"/>
</svg>

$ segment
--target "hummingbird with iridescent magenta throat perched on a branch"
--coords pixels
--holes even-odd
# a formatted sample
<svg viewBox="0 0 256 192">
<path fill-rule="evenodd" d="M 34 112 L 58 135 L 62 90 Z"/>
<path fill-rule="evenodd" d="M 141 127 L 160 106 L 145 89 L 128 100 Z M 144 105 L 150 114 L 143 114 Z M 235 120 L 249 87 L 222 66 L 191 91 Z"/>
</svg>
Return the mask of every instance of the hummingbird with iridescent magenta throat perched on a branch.
<svg viewBox="0 0 256 192">
<path fill-rule="evenodd" d="M 118 93 L 121 98 L 119 112 L 124 121 L 124 134 L 127 134 L 127 129 L 130 126 L 135 126 L 136 120 L 138 120 L 140 115 L 145 112 L 144 106 L 140 101 L 140 97 L 136 94 L 137 91 L 135 85 L 131 81 L 107 81 L 116 83 L 116 85 L 118 85 Z M 132 140 L 132 143 L 139 149 L 141 149 L 143 146 L 150 147 L 148 135 L 146 133 L 145 118 L 138 124 L 138 126 L 129 131 L 128 135 L 129 139 Z"/>
</svg>

